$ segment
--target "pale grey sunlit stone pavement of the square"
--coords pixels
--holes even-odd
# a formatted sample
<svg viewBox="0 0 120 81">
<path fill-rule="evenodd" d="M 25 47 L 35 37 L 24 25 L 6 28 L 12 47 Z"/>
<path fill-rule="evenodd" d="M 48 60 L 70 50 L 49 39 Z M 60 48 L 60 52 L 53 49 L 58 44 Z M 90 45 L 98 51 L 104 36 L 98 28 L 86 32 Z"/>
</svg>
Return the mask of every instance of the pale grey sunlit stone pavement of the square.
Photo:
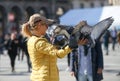
<svg viewBox="0 0 120 81">
<path fill-rule="evenodd" d="M 120 46 L 116 46 L 116 50 L 111 50 L 110 45 L 109 55 L 104 54 L 104 80 L 102 81 L 120 81 L 120 76 L 116 76 L 120 72 Z M 104 50 L 103 50 L 104 53 Z M 16 59 L 16 72 L 11 73 L 7 54 L 0 55 L 0 81 L 30 81 L 30 73 L 27 72 L 26 58 L 23 61 Z M 75 81 L 75 78 L 70 76 L 70 72 L 66 71 L 67 58 L 58 59 L 58 67 L 60 70 L 60 81 Z"/>
</svg>

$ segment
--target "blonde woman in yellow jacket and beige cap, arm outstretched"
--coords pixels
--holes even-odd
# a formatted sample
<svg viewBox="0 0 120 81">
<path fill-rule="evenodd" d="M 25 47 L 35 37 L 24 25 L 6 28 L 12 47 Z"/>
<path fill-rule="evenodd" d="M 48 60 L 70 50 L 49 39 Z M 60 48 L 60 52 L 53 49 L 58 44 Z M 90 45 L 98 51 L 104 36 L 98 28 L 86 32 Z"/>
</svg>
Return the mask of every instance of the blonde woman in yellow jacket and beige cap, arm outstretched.
<svg viewBox="0 0 120 81">
<path fill-rule="evenodd" d="M 28 37 L 27 49 L 32 63 L 31 81 L 59 81 L 57 58 L 63 58 L 78 44 L 84 44 L 87 41 L 82 39 L 76 42 L 71 37 L 67 46 L 57 49 L 45 38 L 48 25 L 51 23 L 52 20 L 40 14 L 33 14 L 29 21 L 22 25 L 22 33 Z"/>
</svg>

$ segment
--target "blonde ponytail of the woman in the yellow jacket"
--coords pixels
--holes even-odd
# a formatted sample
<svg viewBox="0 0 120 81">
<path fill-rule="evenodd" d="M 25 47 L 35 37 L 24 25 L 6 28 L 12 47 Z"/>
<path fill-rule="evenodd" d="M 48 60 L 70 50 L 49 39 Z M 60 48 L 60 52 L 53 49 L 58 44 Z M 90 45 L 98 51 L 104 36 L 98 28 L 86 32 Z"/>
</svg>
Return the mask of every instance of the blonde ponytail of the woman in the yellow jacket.
<svg viewBox="0 0 120 81">
<path fill-rule="evenodd" d="M 24 23 L 22 25 L 22 34 L 23 36 L 25 37 L 31 37 L 32 36 L 32 33 L 30 31 L 30 28 L 29 28 L 30 24 L 29 23 Z"/>
</svg>

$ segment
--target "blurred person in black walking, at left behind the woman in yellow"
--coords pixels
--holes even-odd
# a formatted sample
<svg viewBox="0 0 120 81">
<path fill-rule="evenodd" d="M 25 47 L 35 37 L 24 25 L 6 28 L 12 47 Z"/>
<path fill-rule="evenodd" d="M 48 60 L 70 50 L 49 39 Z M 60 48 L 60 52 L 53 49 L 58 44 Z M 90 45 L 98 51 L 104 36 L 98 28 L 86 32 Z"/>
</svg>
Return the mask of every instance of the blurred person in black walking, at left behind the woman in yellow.
<svg viewBox="0 0 120 81">
<path fill-rule="evenodd" d="M 16 33 L 12 32 L 10 39 L 6 41 L 6 48 L 8 50 L 8 56 L 10 58 L 11 71 L 15 72 L 15 59 L 18 51 L 18 40 Z"/>
</svg>

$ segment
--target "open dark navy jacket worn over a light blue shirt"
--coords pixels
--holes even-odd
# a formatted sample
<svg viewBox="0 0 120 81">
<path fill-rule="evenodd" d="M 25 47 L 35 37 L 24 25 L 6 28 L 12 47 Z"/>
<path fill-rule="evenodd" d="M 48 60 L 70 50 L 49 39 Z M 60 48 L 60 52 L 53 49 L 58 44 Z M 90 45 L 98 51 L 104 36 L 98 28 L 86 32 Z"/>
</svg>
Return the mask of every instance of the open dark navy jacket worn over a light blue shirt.
<svg viewBox="0 0 120 81">
<path fill-rule="evenodd" d="M 92 77 L 93 81 L 101 81 L 103 79 L 102 70 L 103 70 L 103 53 L 101 48 L 101 43 L 96 41 L 94 48 L 91 48 L 91 63 L 92 63 Z M 80 53 L 78 50 L 74 50 L 71 53 L 71 72 L 72 75 L 76 77 L 77 81 L 80 72 Z"/>
</svg>

